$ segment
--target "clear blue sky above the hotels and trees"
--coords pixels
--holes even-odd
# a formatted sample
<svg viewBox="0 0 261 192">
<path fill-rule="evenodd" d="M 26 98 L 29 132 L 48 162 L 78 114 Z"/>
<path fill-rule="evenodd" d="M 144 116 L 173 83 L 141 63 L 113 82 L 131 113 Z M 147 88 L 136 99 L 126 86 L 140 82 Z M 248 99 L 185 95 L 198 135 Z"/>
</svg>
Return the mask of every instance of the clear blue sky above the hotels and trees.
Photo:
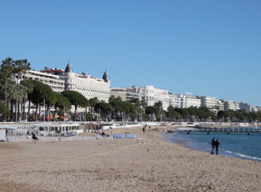
<svg viewBox="0 0 261 192">
<path fill-rule="evenodd" d="M 0 60 L 261 106 L 261 1 L 1 1 Z"/>
</svg>

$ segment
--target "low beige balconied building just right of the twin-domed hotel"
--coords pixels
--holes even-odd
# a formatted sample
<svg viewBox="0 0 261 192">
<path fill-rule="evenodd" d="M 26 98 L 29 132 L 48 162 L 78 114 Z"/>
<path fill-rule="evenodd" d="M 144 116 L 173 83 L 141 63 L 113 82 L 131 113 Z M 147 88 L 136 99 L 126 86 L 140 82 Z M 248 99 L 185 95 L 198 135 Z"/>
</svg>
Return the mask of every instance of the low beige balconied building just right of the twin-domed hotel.
<svg viewBox="0 0 261 192">
<path fill-rule="evenodd" d="M 129 101 L 131 98 L 139 99 L 139 93 L 136 92 L 136 88 L 127 88 L 127 87 L 112 87 L 111 95 L 114 97 L 121 97 L 122 101 Z"/>
</svg>

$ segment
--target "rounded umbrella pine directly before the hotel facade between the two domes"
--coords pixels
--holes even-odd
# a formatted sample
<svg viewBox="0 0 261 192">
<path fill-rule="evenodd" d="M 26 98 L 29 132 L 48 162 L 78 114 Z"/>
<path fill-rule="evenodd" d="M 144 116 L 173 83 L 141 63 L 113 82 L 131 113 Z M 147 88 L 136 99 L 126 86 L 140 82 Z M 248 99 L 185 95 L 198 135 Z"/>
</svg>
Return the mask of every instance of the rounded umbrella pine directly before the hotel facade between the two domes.
<svg viewBox="0 0 261 192">
<path fill-rule="evenodd" d="M 90 105 L 88 99 L 86 99 L 86 97 L 84 97 L 81 93 L 78 93 L 77 91 L 63 91 L 62 95 L 67 97 L 67 99 L 69 99 L 69 101 L 71 102 L 71 105 L 75 108 L 74 121 L 76 121 L 77 108 L 86 108 Z"/>
</svg>

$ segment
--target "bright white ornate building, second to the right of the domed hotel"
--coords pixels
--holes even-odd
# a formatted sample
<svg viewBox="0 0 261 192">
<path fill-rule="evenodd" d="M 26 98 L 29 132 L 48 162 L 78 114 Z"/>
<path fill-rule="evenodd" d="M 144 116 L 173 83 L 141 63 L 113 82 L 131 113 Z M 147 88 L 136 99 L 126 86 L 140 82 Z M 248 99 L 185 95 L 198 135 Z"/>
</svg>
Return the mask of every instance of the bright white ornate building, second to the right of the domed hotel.
<svg viewBox="0 0 261 192">
<path fill-rule="evenodd" d="M 154 106 L 158 101 L 163 104 L 163 110 L 167 110 L 169 106 L 168 90 L 154 88 L 154 86 L 135 87 L 136 92 L 139 93 L 139 100 L 145 100 L 148 106 Z"/>
</svg>

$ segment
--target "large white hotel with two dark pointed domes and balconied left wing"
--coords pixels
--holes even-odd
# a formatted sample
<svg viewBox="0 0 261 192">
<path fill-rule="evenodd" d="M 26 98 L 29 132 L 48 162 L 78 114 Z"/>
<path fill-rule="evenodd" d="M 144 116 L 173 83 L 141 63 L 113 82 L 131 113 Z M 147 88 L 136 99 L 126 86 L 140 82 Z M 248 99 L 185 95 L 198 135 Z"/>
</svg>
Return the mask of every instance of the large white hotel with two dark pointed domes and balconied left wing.
<svg viewBox="0 0 261 192">
<path fill-rule="evenodd" d="M 70 62 L 67 64 L 65 71 L 63 69 L 45 67 L 43 71 L 25 71 L 25 76 L 22 73 L 14 73 L 12 78 L 16 82 L 20 82 L 23 79 L 37 80 L 49 85 L 53 91 L 58 93 L 69 90 L 77 91 L 87 99 L 97 97 L 100 101 L 109 102 L 109 74 L 105 71 L 102 79 L 91 77 L 91 75 L 86 75 L 86 73 L 77 74 L 73 72 Z M 78 112 L 80 111 L 84 111 L 84 109 L 79 108 Z"/>
</svg>

